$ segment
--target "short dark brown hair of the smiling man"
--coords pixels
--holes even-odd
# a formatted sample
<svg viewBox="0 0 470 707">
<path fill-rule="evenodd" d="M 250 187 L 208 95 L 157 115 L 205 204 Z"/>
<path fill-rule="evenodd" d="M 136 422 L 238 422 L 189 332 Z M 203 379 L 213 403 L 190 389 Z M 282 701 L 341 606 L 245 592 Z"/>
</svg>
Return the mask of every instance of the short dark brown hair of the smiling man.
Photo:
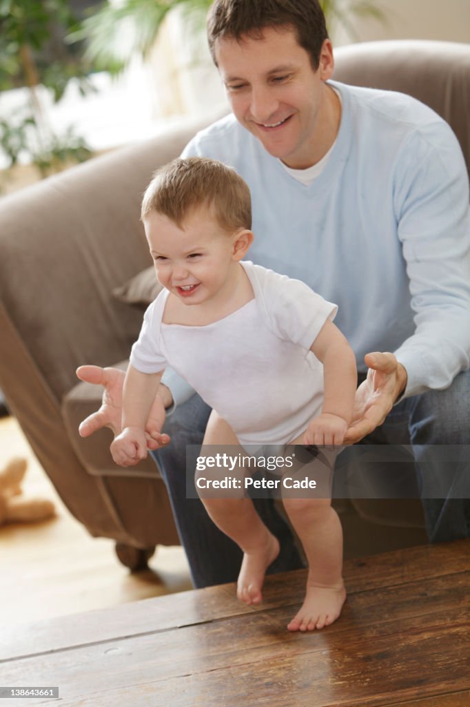
<svg viewBox="0 0 470 707">
<path fill-rule="evenodd" d="M 291 27 L 318 69 L 323 42 L 328 38 L 325 15 L 318 0 L 215 0 L 207 15 L 207 40 L 212 59 L 221 37 L 259 39 L 267 27 Z"/>
</svg>

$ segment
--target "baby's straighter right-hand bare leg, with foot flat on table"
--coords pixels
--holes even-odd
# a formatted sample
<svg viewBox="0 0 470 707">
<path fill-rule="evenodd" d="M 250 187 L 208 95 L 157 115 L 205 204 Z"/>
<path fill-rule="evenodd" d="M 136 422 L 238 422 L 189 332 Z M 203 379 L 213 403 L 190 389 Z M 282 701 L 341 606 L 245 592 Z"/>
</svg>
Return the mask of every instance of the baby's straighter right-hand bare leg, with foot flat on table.
<svg viewBox="0 0 470 707">
<path fill-rule="evenodd" d="M 301 438 L 294 444 L 301 443 Z M 315 479 L 320 494 L 330 493 L 335 452 L 321 450 L 321 455 L 300 466 L 294 479 Z M 288 624 L 290 631 L 313 631 L 333 623 L 341 613 L 346 590 L 342 578 L 343 536 L 331 498 L 315 498 L 315 491 L 283 489 L 287 515 L 299 535 L 308 560 L 306 597 L 300 611 Z M 303 494 L 304 498 L 300 496 Z M 320 496 L 319 494 L 319 496 Z"/>
</svg>

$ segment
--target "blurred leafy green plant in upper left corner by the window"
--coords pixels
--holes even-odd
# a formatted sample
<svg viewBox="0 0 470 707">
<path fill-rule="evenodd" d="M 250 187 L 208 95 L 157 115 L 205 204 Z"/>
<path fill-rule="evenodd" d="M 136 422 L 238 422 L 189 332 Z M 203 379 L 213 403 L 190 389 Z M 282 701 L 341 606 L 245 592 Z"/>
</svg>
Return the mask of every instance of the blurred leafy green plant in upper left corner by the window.
<svg viewBox="0 0 470 707">
<path fill-rule="evenodd" d="M 27 153 L 44 177 L 91 154 L 73 127 L 54 132 L 44 101 L 44 87 L 57 102 L 71 78 L 82 93 L 90 88 L 90 66 L 62 41 L 76 24 L 67 0 L 0 0 L 0 91 L 26 89 L 14 113 L 0 118 L 0 150 L 9 167 Z"/>
</svg>

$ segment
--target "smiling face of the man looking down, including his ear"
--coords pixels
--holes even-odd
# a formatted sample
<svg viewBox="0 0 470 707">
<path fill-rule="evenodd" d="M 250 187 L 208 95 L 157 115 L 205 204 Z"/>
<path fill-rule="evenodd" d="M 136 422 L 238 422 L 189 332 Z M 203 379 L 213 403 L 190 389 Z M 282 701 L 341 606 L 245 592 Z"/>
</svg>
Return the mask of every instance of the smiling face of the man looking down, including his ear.
<svg viewBox="0 0 470 707">
<path fill-rule="evenodd" d="M 339 122 L 339 106 L 333 115 L 335 98 L 325 86 L 333 71 L 330 41 L 323 44 L 317 71 L 291 28 L 265 28 L 259 39 L 222 37 L 215 54 L 243 127 L 291 168 L 318 162 L 335 139 L 335 119 Z"/>
</svg>

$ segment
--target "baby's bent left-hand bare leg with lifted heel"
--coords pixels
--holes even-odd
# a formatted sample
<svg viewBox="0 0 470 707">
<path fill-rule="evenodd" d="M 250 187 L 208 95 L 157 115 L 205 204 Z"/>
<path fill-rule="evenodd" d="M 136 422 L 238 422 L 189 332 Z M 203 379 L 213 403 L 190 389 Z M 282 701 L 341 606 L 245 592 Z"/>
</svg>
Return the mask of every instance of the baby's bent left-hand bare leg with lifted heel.
<svg viewBox="0 0 470 707">
<path fill-rule="evenodd" d="M 212 445 L 212 448 L 208 445 Z M 234 431 L 215 411 L 212 411 L 207 422 L 200 456 L 215 456 L 217 450 L 215 450 L 213 445 L 219 445 L 220 449 L 218 451 L 220 454 L 227 452 L 227 449 L 224 449 L 224 445 L 230 445 L 230 455 L 232 456 L 244 454 Z M 204 473 L 196 472 L 196 474 L 207 477 L 208 471 L 210 470 L 206 469 Z M 258 513 L 256 513 L 251 498 L 245 497 L 245 470 L 243 467 L 230 471 L 227 469 L 227 476 L 235 477 L 239 480 L 241 489 L 231 489 L 229 492 L 224 489 L 223 491 L 212 491 L 211 493 L 199 490 L 200 498 L 215 525 L 243 550 L 243 561 L 237 583 L 237 596 L 246 604 L 259 604 L 262 600 L 261 588 L 263 587 L 265 573 L 279 554 L 279 542 L 267 530 Z M 216 469 L 216 473 L 212 474 L 212 477 L 222 478 L 220 469 Z M 231 497 L 227 498 L 227 496 Z"/>
</svg>

